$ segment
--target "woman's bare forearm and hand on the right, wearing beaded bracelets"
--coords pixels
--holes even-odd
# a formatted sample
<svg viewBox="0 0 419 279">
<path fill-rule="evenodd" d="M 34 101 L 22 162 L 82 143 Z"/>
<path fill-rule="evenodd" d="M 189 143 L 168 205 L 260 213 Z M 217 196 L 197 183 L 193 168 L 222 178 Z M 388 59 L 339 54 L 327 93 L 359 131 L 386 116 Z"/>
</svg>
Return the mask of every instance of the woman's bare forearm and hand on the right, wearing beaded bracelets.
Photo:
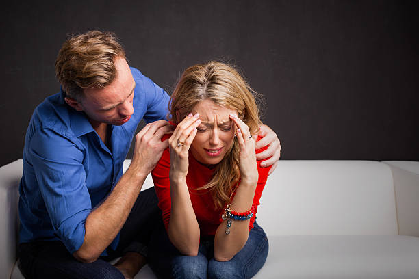
<svg viewBox="0 0 419 279">
<path fill-rule="evenodd" d="M 231 115 L 231 119 L 238 127 L 237 137 L 240 145 L 240 185 L 231 202 L 231 209 L 236 212 L 245 212 L 251 209 L 255 190 L 258 181 L 257 163 L 255 155 L 255 139 L 257 135 L 249 138 L 251 133 L 249 127 L 236 116 Z M 229 261 L 239 252 L 249 237 L 249 219 L 235 221 L 229 227 L 230 233 L 227 235 L 227 220 L 221 222 L 216 231 L 214 241 L 214 258 L 216 261 Z"/>
</svg>

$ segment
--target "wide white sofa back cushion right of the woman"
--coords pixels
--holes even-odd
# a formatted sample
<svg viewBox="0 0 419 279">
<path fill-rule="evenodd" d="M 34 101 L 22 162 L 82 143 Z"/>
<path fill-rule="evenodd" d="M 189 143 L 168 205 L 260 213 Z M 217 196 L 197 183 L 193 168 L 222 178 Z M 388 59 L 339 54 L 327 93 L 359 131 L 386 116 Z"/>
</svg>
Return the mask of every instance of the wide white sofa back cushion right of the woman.
<svg viewBox="0 0 419 279">
<path fill-rule="evenodd" d="M 279 161 L 257 221 L 267 235 L 397 235 L 392 172 L 375 161 Z"/>
</svg>

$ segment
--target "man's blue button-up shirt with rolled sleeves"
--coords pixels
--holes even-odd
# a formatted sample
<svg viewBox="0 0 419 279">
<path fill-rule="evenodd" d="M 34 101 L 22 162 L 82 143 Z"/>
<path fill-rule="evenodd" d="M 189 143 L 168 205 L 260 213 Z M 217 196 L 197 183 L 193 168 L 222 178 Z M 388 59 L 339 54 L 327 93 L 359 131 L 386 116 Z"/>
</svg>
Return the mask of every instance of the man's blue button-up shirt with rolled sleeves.
<svg viewBox="0 0 419 279">
<path fill-rule="evenodd" d="M 89 213 L 112 191 L 123 171 L 131 140 L 142 118 L 166 119 L 169 96 L 131 68 L 136 82 L 134 114 L 112 126 L 111 148 L 63 92 L 46 98 L 32 115 L 23 149 L 19 187 L 20 242 L 60 240 L 73 253 L 83 244 Z M 111 243 L 116 248 L 119 234 Z M 105 252 L 103 254 L 106 254 Z"/>
</svg>

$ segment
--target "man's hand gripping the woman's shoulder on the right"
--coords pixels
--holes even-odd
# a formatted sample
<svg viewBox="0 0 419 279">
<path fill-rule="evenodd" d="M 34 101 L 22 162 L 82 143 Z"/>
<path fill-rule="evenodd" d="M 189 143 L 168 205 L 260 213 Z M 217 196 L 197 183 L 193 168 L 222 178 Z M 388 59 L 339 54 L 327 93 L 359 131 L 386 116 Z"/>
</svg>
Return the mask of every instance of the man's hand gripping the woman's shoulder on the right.
<svg viewBox="0 0 419 279">
<path fill-rule="evenodd" d="M 262 139 L 260 139 L 259 142 L 256 142 L 256 149 L 260 149 L 264 146 L 268 146 L 268 149 L 258 153 L 256 159 L 263 160 L 270 157 L 266 161 L 260 163 L 260 166 L 266 168 L 272 165 L 272 168 L 270 168 L 268 173 L 271 174 L 275 168 L 277 168 L 279 157 L 281 157 L 281 142 L 279 142 L 277 134 L 264 124 L 260 127 L 259 136 L 262 137 Z"/>
</svg>

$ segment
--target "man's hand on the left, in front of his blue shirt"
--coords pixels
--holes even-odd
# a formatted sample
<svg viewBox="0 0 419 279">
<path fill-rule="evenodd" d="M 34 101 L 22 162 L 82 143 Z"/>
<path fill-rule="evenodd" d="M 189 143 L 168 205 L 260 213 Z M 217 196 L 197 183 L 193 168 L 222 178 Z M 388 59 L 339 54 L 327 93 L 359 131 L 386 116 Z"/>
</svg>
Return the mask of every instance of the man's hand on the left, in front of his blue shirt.
<svg viewBox="0 0 419 279">
<path fill-rule="evenodd" d="M 162 142 L 166 133 L 171 133 L 173 127 L 165 120 L 147 124 L 136 135 L 136 145 L 129 168 L 147 176 L 157 161 L 162 157 L 163 151 L 168 147 L 168 139 Z"/>
</svg>

